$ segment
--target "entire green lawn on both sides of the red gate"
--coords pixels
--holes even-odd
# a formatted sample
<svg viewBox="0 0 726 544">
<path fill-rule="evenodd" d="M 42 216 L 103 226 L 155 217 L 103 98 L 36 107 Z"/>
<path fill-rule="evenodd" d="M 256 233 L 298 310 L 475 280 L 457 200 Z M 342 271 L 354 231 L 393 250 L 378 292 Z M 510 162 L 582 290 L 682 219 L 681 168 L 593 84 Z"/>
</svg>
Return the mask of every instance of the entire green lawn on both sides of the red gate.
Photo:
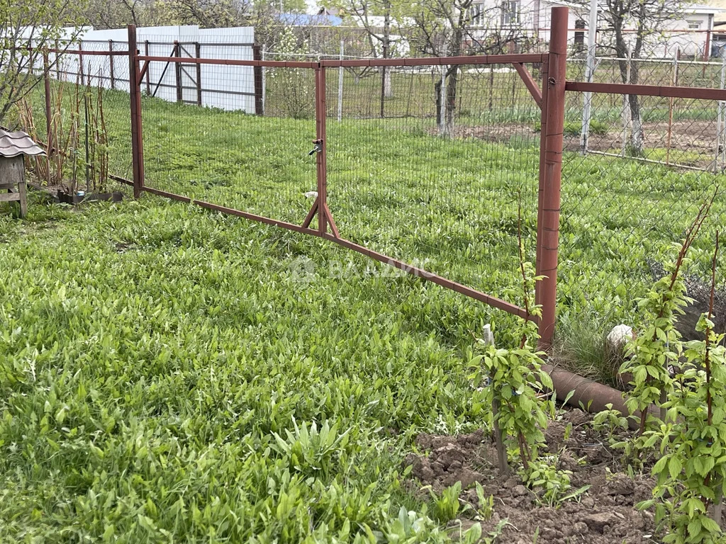
<svg viewBox="0 0 726 544">
<path fill-rule="evenodd" d="M 128 176 L 128 96 L 105 104 L 111 170 Z M 313 120 L 143 107 L 150 186 L 302 221 Z M 343 236 L 521 302 L 534 126 L 446 139 L 431 117 L 346 117 L 328 120 L 327 146 Z M 720 181 L 566 154 L 558 342 L 576 370 L 603 371 L 608 329 L 637 324 L 648 259 L 672 257 Z M 724 206 L 692 273 L 707 274 Z M 507 345 L 512 317 L 334 244 L 149 194 L 69 210 L 34 193 L 27 220 L 0 211 L 0 542 L 444 540 L 401 461 L 417 432 L 487 423 L 471 335 L 490 322 Z"/>
</svg>

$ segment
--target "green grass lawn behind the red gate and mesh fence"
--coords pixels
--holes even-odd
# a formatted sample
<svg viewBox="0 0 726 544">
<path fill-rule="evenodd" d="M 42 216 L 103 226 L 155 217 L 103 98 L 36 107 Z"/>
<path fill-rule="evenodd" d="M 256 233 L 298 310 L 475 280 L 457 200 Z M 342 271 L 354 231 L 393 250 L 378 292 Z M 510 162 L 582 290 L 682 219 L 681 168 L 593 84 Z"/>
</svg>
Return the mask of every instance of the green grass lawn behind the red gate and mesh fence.
<svg viewBox="0 0 726 544">
<path fill-rule="evenodd" d="M 108 91 L 105 104 L 111 171 L 128 175 L 128 95 Z M 143 119 L 149 186 L 302 223 L 312 202 L 303 194 L 316 188 L 314 157 L 307 154 L 313 119 L 259 118 L 158 99 L 144 99 Z M 329 205 L 342 236 L 521 304 L 518 203 L 526 255 L 534 260 L 539 133 L 535 123 L 480 126 L 484 136 L 446 139 L 436 136 L 433 116 L 346 116 L 340 123 L 329 117 Z M 601 352 L 613 324 L 632 323 L 635 300 L 651 280 L 648 259 L 670 258 L 671 244 L 722 181 L 709 173 L 566 153 L 560 341 Z M 695 248 L 693 273 L 699 276 L 708 275 L 708 248 L 724 205 L 719 197 Z M 346 274 L 346 263 L 317 265 Z M 508 317 L 486 314 L 505 333 Z"/>
</svg>

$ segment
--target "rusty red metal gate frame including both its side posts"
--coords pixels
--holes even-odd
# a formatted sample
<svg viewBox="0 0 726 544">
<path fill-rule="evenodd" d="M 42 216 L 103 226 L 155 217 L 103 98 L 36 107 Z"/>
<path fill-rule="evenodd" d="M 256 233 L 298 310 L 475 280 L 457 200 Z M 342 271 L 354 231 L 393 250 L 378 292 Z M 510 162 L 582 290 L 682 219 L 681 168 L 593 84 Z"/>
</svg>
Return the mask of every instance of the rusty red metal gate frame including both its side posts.
<svg viewBox="0 0 726 544">
<path fill-rule="evenodd" d="M 494 308 L 523 319 L 539 323 L 539 346 L 550 347 L 555 331 L 555 300 L 557 292 L 558 239 L 560 221 L 560 181 L 562 176 L 563 125 L 565 111 L 565 69 L 567 59 L 567 7 L 552 8 L 552 30 L 550 33 L 550 51 L 544 54 L 499 54 L 475 55 L 469 57 L 424 57 L 414 59 L 352 59 L 323 60 L 319 62 L 287 62 L 232 60 L 232 59 L 200 59 L 181 57 L 153 57 L 139 54 L 136 43 L 136 28 L 129 25 L 129 67 L 130 67 L 130 100 L 131 100 L 131 150 L 133 157 L 133 180 L 128 181 L 118 176 L 116 180 L 134 187 L 134 197 L 139 198 L 142 192 L 156 194 L 181 202 L 189 202 L 208 210 L 216 210 L 229 215 L 251 219 L 261 223 L 287 228 L 290 231 L 319 236 L 335 242 L 342 247 L 366 255 L 381 263 L 399 268 L 401 271 L 431 281 L 446 289 L 464 294 L 474 300 L 484 302 Z M 219 206 L 211 202 L 191 199 L 160 189 L 147 187 L 144 183 L 144 151 L 142 143 L 142 107 L 141 86 L 150 62 L 184 62 L 197 65 L 234 65 L 252 67 L 289 67 L 309 68 L 315 73 L 315 113 L 316 113 L 316 170 L 317 192 L 311 210 L 301 225 L 255 215 L 242 210 Z M 143 63 L 143 64 L 142 64 Z M 528 63 L 542 66 L 542 86 L 531 77 L 524 67 Z M 335 226 L 333 214 L 327 205 L 327 153 L 326 153 L 326 104 L 325 104 L 325 70 L 328 67 L 362 67 L 362 66 L 430 66 L 430 65 L 494 65 L 511 64 L 520 75 L 527 90 L 542 110 L 540 131 L 540 167 L 537 211 L 537 275 L 544 276 L 538 282 L 535 302 L 542 306 L 542 316 L 534 316 L 524 308 L 459 284 L 443 276 L 425 271 L 421 268 L 404 263 L 388 255 L 370 250 L 367 247 L 351 242 L 340 236 Z M 311 228 L 312 220 L 317 216 L 317 228 Z"/>
</svg>

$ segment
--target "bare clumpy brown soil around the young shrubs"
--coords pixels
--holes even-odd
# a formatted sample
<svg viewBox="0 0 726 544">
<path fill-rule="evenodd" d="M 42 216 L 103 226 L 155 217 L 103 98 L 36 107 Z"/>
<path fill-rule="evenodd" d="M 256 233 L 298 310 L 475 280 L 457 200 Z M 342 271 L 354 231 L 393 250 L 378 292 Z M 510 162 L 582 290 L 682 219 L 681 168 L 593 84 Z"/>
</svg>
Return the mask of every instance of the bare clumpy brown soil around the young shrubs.
<svg viewBox="0 0 726 544">
<path fill-rule="evenodd" d="M 571 424 L 570 436 L 565 440 Z M 653 481 L 631 479 L 621 472 L 621 453 L 611 450 L 605 437 L 593 431 L 590 416 L 580 410 L 565 413 L 562 421 L 547 428 L 547 448 L 560 453 L 559 467 L 572 471 L 571 490 L 590 485 L 579 500 L 568 500 L 559 508 L 544 505 L 537 493 L 523 485 L 517 476 L 499 475 L 497 453 L 489 436 L 481 431 L 459 436 L 420 434 L 416 444 L 428 455 L 409 454 L 406 463 L 421 485 L 440 492 L 462 483 L 461 500 L 478 508 L 474 482 L 494 497 L 494 514 L 482 522 L 484 534 L 502 519 L 507 525 L 500 543 L 653 543 L 652 512 L 637 511 L 635 505 L 650 498 Z M 539 493 L 539 492 L 538 492 Z M 473 517 L 473 511 L 463 514 Z M 464 526 L 467 523 L 462 520 Z"/>
</svg>

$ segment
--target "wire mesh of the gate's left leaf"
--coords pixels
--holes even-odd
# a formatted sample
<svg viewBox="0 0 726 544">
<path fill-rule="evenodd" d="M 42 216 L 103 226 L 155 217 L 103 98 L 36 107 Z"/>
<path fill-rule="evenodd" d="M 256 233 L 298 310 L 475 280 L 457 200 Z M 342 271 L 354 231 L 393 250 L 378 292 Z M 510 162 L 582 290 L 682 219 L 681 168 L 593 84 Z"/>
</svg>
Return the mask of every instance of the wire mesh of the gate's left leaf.
<svg viewBox="0 0 726 544">
<path fill-rule="evenodd" d="M 152 61 L 150 67 L 155 63 L 163 64 Z M 208 85 L 236 81 L 240 68 L 251 70 L 216 68 Z M 145 183 L 192 199 L 302 223 L 317 184 L 315 159 L 308 154 L 316 135 L 313 76 L 310 69 L 268 67 L 264 115 L 198 107 L 184 100 L 168 104 L 144 96 Z"/>
</svg>

